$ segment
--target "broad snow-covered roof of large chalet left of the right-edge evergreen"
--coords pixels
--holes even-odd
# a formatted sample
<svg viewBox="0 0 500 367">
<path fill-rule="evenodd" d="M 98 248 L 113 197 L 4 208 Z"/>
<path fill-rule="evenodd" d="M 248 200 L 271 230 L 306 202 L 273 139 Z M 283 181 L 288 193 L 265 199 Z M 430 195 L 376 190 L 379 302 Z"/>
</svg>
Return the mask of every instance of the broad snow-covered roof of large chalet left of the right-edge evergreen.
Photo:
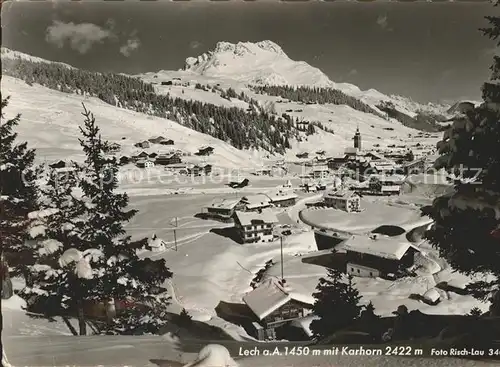
<svg viewBox="0 0 500 367">
<path fill-rule="evenodd" d="M 391 260 L 401 260 L 410 248 L 420 251 L 409 242 L 379 236 L 352 236 L 342 248 Z"/>
</svg>

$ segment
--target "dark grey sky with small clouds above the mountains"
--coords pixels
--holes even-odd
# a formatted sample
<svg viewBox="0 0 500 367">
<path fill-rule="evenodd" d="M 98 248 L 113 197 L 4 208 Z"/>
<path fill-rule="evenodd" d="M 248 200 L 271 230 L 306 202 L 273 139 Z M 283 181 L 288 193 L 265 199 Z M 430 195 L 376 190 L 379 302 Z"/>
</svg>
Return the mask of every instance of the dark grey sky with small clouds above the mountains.
<svg viewBox="0 0 500 367">
<path fill-rule="evenodd" d="M 418 101 L 476 99 L 490 3 L 4 3 L 2 45 L 96 71 L 179 69 L 218 41 L 278 43 L 336 82 Z"/>
</svg>

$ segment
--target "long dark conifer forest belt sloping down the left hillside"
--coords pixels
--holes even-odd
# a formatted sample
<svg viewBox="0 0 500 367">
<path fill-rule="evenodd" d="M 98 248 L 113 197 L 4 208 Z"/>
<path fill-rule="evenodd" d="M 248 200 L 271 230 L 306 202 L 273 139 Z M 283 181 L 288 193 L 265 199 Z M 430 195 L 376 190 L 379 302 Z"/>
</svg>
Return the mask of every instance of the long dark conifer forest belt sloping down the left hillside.
<svg viewBox="0 0 500 367">
<path fill-rule="evenodd" d="M 2 60 L 2 72 L 29 85 L 37 83 L 65 93 L 97 97 L 117 107 L 168 118 L 238 149 L 284 153 L 290 148 L 289 140 L 299 134 L 289 116 L 159 95 L 152 84 L 123 74 L 97 73 L 21 58 Z"/>
</svg>

